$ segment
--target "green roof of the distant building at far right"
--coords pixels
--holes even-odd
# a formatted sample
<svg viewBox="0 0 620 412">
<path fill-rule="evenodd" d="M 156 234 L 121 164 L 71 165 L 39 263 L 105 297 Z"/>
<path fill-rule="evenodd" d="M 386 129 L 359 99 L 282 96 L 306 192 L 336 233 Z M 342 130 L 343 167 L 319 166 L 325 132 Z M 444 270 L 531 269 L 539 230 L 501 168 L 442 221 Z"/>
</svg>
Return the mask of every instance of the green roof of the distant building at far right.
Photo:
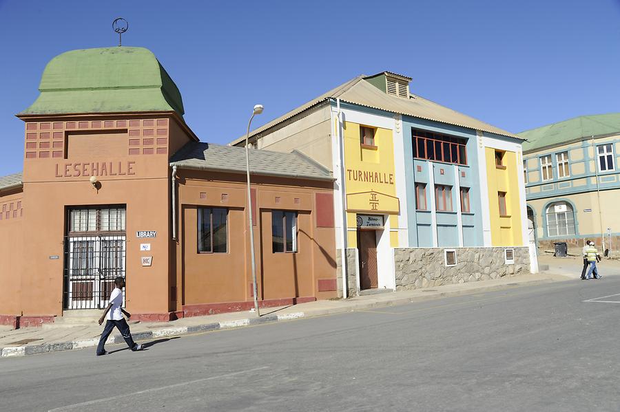
<svg viewBox="0 0 620 412">
<path fill-rule="evenodd" d="M 522 131 L 519 136 L 528 140 L 523 144 L 523 151 L 533 151 L 582 140 L 590 136 L 613 133 L 620 133 L 620 113 L 579 116 L 563 122 Z"/>
</svg>

